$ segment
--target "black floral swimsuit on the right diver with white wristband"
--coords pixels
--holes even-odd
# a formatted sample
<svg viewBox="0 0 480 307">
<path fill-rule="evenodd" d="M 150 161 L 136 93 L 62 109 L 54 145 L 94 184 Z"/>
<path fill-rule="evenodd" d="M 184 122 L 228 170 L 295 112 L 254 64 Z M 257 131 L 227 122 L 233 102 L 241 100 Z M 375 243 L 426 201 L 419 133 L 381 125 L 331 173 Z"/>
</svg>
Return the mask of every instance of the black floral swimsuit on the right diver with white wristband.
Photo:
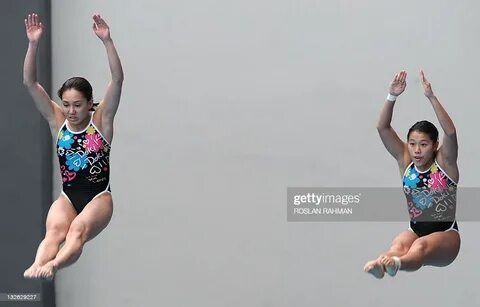
<svg viewBox="0 0 480 307">
<path fill-rule="evenodd" d="M 424 172 L 420 172 L 413 162 L 410 163 L 403 176 L 403 191 L 407 198 L 410 226 L 416 233 L 415 229 L 426 235 L 457 227 L 457 183 L 437 161 Z"/>
</svg>

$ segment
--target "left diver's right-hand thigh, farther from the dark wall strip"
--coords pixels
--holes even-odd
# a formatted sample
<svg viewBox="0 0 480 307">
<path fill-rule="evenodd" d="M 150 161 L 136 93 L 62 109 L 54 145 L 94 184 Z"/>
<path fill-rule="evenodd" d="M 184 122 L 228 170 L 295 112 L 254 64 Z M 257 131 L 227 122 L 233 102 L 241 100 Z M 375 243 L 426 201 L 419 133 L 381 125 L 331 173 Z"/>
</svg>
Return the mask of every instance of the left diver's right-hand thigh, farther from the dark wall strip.
<svg viewBox="0 0 480 307">
<path fill-rule="evenodd" d="M 72 227 L 84 230 L 86 241 L 96 237 L 110 222 L 113 214 L 112 195 L 108 192 L 92 199 L 73 220 Z"/>
</svg>

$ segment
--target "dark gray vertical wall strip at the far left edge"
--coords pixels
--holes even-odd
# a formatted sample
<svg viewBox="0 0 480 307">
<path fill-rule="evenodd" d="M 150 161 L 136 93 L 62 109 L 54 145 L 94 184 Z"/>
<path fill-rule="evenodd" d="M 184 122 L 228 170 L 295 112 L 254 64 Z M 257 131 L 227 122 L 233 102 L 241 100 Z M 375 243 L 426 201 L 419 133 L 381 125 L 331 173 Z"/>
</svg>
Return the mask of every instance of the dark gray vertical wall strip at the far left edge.
<svg viewBox="0 0 480 307">
<path fill-rule="evenodd" d="M 52 202 L 51 137 L 47 123 L 23 87 L 23 59 L 27 48 L 24 18 L 30 12 L 50 15 L 49 1 L 0 2 L 1 213 L 0 293 L 40 293 L 41 302 L 1 301 L 0 306 L 55 306 L 53 283 L 25 280 L 23 272 L 45 234 L 46 212 Z M 50 88 L 50 33 L 39 51 L 39 80 Z"/>
</svg>

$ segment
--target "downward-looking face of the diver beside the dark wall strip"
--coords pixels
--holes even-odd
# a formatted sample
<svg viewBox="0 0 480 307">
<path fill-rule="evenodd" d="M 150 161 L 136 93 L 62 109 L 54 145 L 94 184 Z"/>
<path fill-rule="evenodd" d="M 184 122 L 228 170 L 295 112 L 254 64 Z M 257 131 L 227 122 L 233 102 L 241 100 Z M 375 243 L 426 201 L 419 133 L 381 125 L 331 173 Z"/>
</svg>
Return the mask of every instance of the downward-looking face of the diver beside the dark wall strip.
<svg viewBox="0 0 480 307">
<path fill-rule="evenodd" d="M 93 102 L 87 101 L 83 94 L 75 89 L 68 89 L 62 95 L 62 110 L 69 123 L 81 124 L 89 116 Z"/>
</svg>

